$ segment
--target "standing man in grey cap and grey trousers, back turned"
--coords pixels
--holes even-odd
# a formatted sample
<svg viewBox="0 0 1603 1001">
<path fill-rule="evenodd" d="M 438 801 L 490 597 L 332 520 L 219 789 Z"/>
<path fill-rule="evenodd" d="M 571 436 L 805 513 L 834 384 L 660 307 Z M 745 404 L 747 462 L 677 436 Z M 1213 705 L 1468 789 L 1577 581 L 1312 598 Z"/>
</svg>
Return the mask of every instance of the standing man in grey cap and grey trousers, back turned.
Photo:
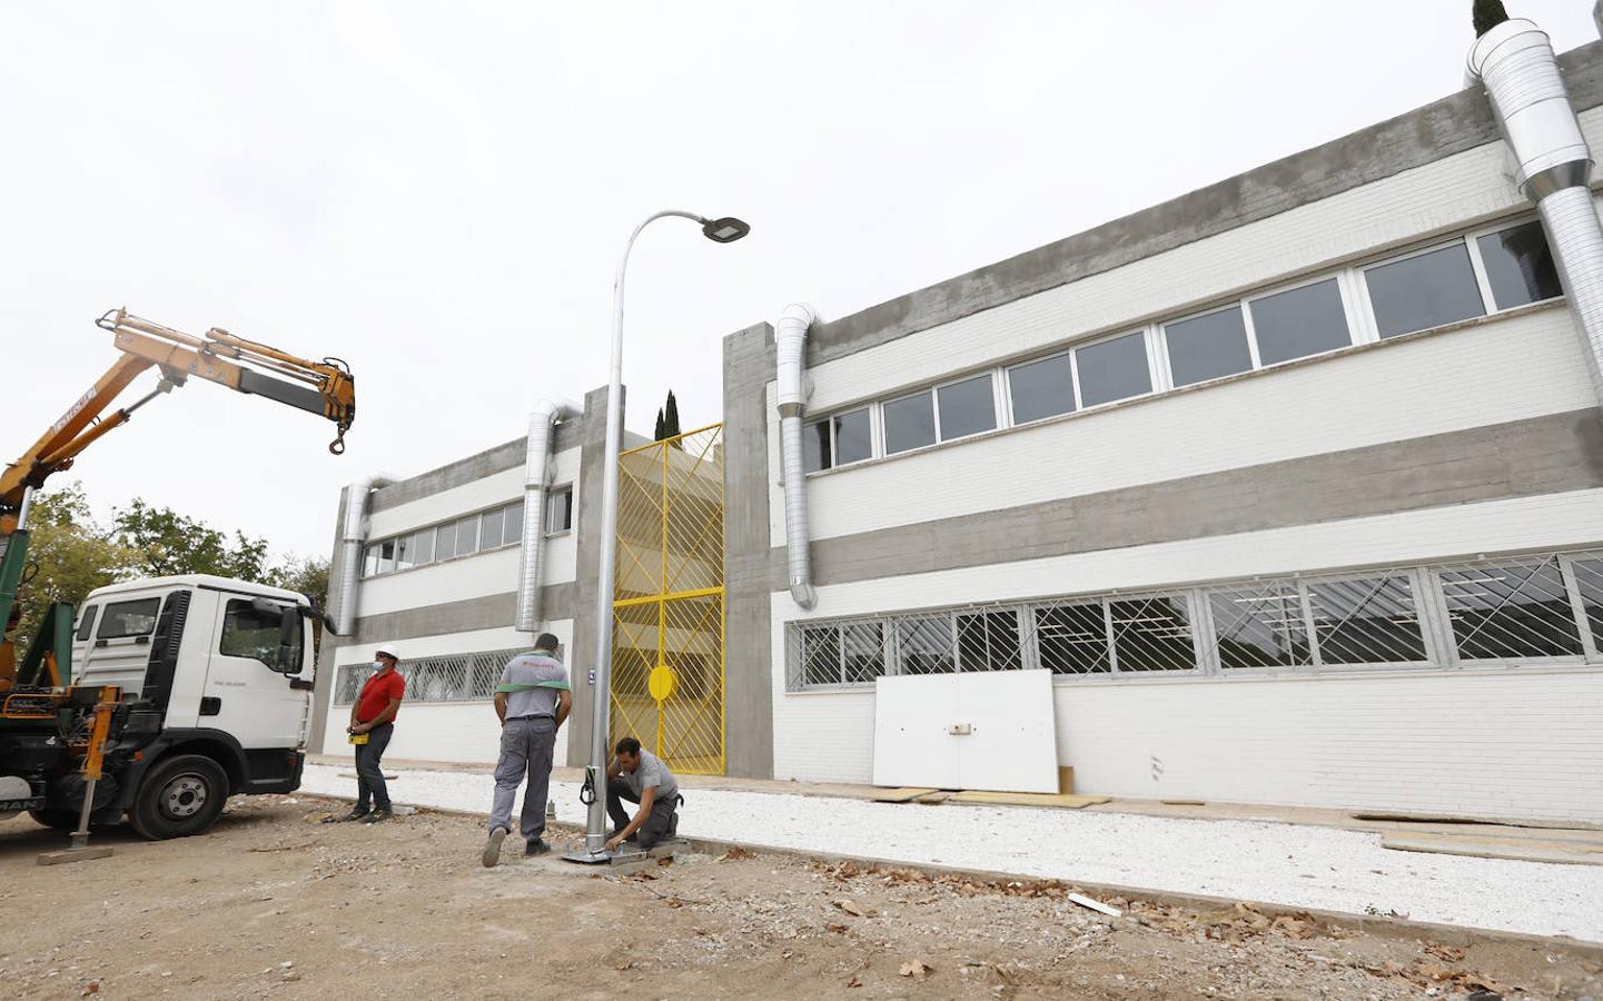
<svg viewBox="0 0 1603 1001">
<path fill-rule="evenodd" d="M 551 850 L 545 842 L 545 796 L 551 785 L 551 751 L 556 730 L 574 708 L 567 668 L 556 658 L 556 637 L 542 633 L 532 653 L 519 653 L 502 669 L 495 687 L 495 714 L 502 721 L 500 759 L 495 762 L 495 801 L 491 806 L 491 836 L 484 844 L 486 868 L 500 862 L 500 847 L 511 833 L 511 802 L 524 774 L 519 831 L 524 855 Z"/>
</svg>

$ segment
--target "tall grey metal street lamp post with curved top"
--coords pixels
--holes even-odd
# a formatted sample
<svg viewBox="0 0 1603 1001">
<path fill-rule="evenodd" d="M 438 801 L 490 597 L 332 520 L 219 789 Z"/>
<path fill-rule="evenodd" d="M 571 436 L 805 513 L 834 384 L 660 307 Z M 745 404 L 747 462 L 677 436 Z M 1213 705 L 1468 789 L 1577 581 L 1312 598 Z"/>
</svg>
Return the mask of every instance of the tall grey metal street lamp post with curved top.
<svg viewBox="0 0 1603 1001">
<path fill-rule="evenodd" d="M 592 697 L 590 764 L 585 767 L 585 791 L 590 815 L 585 823 L 585 847 L 564 855 L 569 862 L 603 863 L 611 858 L 606 850 L 606 762 L 608 721 L 612 690 L 612 585 L 617 564 L 617 463 L 624 437 L 624 275 L 628 271 L 628 251 L 635 248 L 640 232 L 668 216 L 701 223 L 702 235 L 715 243 L 733 243 L 752 231 L 734 216 L 709 219 L 692 211 L 667 210 L 646 216 L 624 243 L 624 256 L 617 261 L 617 277 L 612 280 L 612 373 L 606 394 L 606 468 L 601 474 L 601 567 L 596 580 L 596 684 Z M 664 540 L 667 545 L 667 540 Z"/>
</svg>

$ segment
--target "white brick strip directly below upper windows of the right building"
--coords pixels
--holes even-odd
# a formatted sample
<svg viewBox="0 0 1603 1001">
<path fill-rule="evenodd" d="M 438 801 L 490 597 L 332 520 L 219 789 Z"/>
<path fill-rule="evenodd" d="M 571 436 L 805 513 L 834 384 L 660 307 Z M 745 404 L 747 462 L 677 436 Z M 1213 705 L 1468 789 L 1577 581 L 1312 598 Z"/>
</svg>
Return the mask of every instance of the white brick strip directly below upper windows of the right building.
<svg viewBox="0 0 1603 1001">
<path fill-rule="evenodd" d="M 1569 311 L 1553 306 L 813 476 L 810 535 L 834 538 L 1593 405 Z M 771 436 L 777 440 L 777 428 Z M 782 490 L 776 469 L 773 545 L 784 545 Z"/>
</svg>

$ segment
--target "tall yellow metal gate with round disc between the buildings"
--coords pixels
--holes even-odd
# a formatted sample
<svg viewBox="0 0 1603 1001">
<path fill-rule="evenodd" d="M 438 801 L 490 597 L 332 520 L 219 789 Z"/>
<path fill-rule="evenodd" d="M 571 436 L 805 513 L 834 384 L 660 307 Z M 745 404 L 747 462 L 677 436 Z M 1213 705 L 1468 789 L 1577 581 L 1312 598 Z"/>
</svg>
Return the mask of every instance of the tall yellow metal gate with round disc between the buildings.
<svg viewBox="0 0 1603 1001">
<path fill-rule="evenodd" d="M 612 743 L 723 775 L 723 424 L 619 458 Z"/>
</svg>

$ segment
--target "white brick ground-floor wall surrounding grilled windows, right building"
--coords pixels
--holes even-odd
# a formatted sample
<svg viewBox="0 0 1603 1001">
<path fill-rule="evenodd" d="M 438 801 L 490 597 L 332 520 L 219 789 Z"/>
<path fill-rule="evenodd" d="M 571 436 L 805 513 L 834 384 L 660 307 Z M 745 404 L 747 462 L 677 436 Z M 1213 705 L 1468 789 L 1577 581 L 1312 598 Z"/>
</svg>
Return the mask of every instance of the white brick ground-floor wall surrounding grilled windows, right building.
<svg viewBox="0 0 1603 1001">
<path fill-rule="evenodd" d="M 834 585 L 811 612 L 776 593 L 774 775 L 869 782 L 874 762 L 870 690 L 785 692 L 789 621 L 1598 541 L 1603 490 L 1582 490 Z M 1454 810 L 1603 820 L 1595 668 L 1069 681 L 1056 706 L 1060 754 L 1085 791 L 1444 810 L 1457 798 Z M 1279 761 L 1265 764 L 1268 737 Z"/>
</svg>

